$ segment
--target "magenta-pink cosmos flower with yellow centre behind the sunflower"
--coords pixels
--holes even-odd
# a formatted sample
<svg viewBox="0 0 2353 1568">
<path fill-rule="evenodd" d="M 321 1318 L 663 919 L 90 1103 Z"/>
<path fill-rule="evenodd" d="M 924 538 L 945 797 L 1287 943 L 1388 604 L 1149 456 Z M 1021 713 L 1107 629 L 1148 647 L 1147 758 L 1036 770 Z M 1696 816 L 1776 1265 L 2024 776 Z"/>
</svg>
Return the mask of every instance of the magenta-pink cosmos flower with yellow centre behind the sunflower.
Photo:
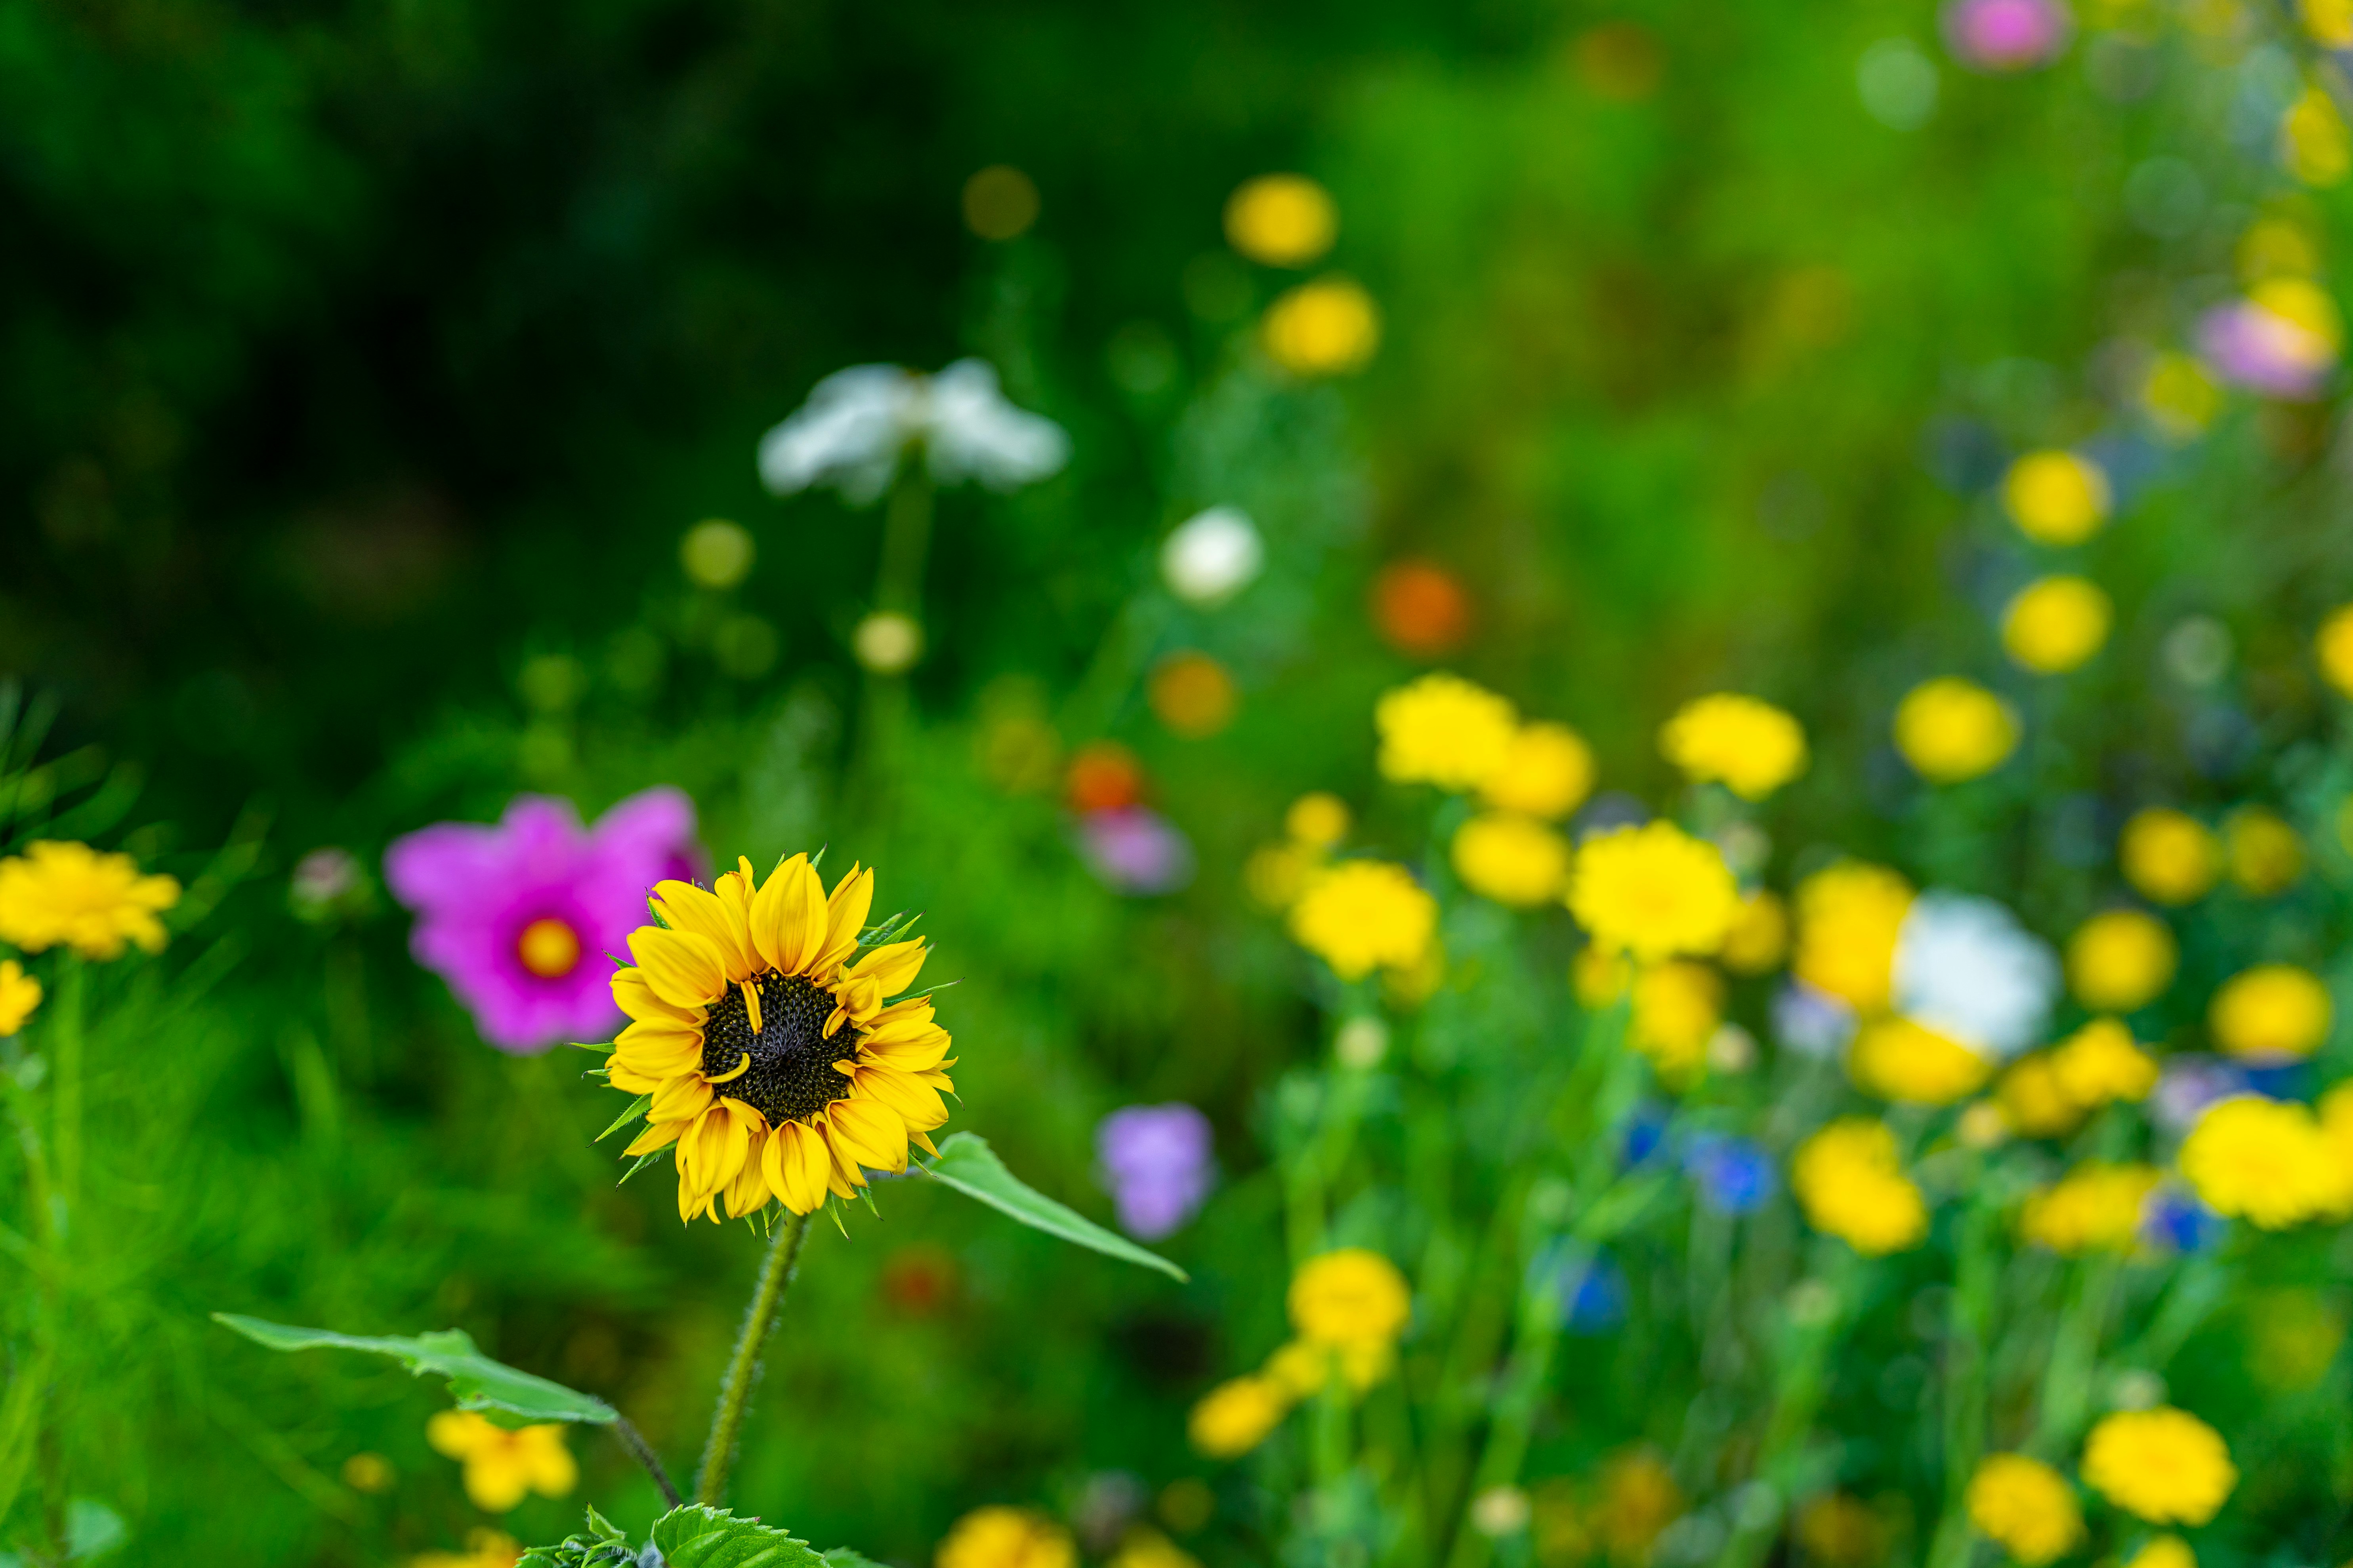
<svg viewBox="0 0 2353 1568">
<path fill-rule="evenodd" d="M 384 884 L 416 910 L 409 952 L 501 1051 L 598 1039 L 621 1023 L 612 964 L 664 877 L 694 877 L 694 802 L 631 795 L 584 830 L 572 802 L 518 795 L 496 827 L 435 823 L 384 851 Z"/>
</svg>

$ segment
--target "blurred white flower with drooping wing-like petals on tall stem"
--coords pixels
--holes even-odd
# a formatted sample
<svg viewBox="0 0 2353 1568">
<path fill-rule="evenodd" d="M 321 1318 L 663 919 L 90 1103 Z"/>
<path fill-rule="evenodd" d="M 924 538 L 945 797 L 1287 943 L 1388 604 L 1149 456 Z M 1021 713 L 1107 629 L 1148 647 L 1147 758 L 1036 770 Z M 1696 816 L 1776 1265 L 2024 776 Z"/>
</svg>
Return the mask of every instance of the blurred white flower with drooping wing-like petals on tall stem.
<svg viewBox="0 0 2353 1568">
<path fill-rule="evenodd" d="M 1005 402 L 998 371 L 958 360 L 936 376 L 852 364 L 760 437 L 760 480 L 779 496 L 831 484 L 852 505 L 889 489 L 899 456 L 920 447 L 941 484 L 1016 489 L 1071 461 L 1071 437 L 1042 414 Z"/>
</svg>

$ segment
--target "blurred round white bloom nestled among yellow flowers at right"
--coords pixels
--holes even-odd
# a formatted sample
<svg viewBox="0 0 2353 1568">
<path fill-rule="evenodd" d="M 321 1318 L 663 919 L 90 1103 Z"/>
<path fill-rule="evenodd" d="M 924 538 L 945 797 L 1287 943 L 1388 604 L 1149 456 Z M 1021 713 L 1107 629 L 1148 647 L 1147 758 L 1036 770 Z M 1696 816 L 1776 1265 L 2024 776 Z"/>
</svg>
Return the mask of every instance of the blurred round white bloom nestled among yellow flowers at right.
<svg viewBox="0 0 2353 1568">
<path fill-rule="evenodd" d="M 1991 898 L 1920 893 L 1897 933 L 1894 1009 L 1995 1060 L 2035 1044 L 2059 959 Z"/>
</svg>

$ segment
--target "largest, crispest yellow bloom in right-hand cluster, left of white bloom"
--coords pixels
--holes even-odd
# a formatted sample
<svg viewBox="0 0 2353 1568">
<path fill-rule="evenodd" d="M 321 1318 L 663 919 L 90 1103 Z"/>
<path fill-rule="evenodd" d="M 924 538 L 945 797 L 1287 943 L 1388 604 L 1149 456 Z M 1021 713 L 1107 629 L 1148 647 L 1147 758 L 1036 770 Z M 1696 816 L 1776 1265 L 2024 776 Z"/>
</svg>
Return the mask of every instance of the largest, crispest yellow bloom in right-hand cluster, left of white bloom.
<svg viewBox="0 0 2353 1568">
<path fill-rule="evenodd" d="M 1642 961 L 1722 947 L 1741 910 L 1725 853 L 1673 823 L 1612 827 L 1577 849 L 1569 912 L 1602 947 Z"/>
</svg>

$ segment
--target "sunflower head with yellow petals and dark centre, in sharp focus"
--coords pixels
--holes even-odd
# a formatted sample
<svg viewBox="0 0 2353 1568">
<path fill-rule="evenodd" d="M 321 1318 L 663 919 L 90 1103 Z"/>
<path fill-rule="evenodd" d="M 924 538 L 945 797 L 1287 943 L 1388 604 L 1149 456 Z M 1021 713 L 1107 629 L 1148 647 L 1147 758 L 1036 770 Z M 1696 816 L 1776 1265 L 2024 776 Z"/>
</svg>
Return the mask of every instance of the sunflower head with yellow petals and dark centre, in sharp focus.
<svg viewBox="0 0 2353 1568">
<path fill-rule="evenodd" d="M 925 943 L 861 943 L 873 872 L 826 896 L 807 856 L 758 884 L 751 860 L 713 889 L 661 882 L 659 924 L 612 978 L 631 1023 L 612 1086 L 652 1095 L 631 1154 L 678 1145 L 678 1218 L 741 1218 L 772 1197 L 812 1213 L 866 1171 L 906 1171 L 906 1145 L 948 1119 L 948 1032 L 915 983 Z M 887 931 L 868 933 L 887 936 Z"/>
</svg>

